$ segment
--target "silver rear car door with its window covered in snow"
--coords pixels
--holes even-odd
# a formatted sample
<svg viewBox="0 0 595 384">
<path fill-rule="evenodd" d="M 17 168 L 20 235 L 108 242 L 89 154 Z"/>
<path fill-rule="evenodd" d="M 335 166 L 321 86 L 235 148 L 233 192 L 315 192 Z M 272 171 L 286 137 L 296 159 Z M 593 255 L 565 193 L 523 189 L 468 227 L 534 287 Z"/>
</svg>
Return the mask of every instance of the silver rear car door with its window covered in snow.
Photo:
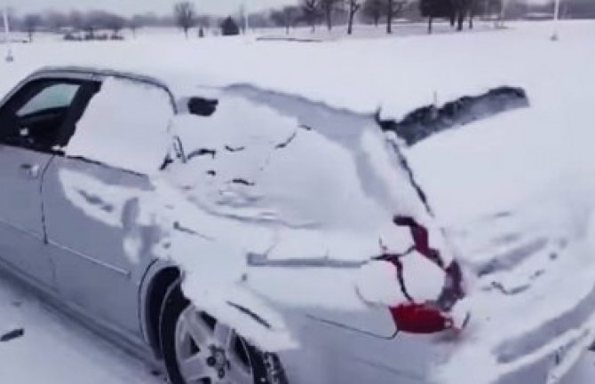
<svg viewBox="0 0 595 384">
<path fill-rule="evenodd" d="M 171 146 L 172 115 L 166 90 L 106 77 L 44 176 L 59 294 L 122 335 L 140 334 L 139 285 L 159 231 L 139 210 L 153 189 L 145 171 L 158 170 Z"/>
</svg>

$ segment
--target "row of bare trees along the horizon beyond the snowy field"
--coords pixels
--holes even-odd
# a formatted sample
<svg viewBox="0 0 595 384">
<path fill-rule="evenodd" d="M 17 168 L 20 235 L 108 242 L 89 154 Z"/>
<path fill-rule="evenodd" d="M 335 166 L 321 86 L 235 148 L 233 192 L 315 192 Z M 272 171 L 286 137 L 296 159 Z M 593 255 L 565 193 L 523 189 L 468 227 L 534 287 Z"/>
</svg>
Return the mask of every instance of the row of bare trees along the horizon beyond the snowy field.
<svg viewBox="0 0 595 384">
<path fill-rule="evenodd" d="M 432 33 L 433 21 L 448 20 L 457 30 L 464 28 L 465 20 L 473 27 L 475 17 L 491 16 L 503 20 L 522 18 L 530 12 L 551 12 L 553 1 L 531 5 L 527 0 L 296 0 L 297 4 L 279 9 L 246 14 L 239 9 L 226 18 L 200 13 L 191 1 L 174 4 L 170 15 L 157 16 L 154 13 L 123 17 L 113 12 L 55 12 L 28 13 L 21 17 L 11 15 L 12 27 L 28 34 L 29 40 L 37 31 L 65 33 L 83 32 L 85 38 L 97 38 L 97 31 L 109 31 L 117 38 L 123 29 L 130 29 L 136 35 L 140 27 L 179 27 L 186 36 L 192 28 L 198 35 L 205 34 L 210 27 L 220 27 L 222 35 L 241 33 L 250 27 L 324 26 L 329 31 L 337 25 L 346 25 L 346 33 L 353 33 L 356 22 L 385 26 L 387 34 L 393 33 L 395 20 L 427 20 L 428 32 Z M 595 1 L 562 0 L 562 15 L 567 17 L 595 17 Z M 105 37 L 105 35 L 102 35 Z"/>
</svg>

